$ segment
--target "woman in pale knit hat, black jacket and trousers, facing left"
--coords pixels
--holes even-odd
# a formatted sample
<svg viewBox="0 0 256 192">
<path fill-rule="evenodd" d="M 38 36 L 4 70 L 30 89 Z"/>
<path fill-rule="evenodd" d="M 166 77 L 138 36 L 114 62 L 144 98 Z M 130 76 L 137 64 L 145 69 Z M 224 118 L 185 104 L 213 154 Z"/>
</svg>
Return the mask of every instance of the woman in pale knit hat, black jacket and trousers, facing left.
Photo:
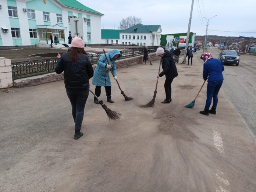
<svg viewBox="0 0 256 192">
<path fill-rule="evenodd" d="M 161 103 L 171 102 L 171 83 L 173 79 L 178 76 L 177 68 L 173 60 L 173 55 L 170 51 L 165 51 L 162 47 L 157 48 L 156 55 L 161 57 L 161 64 L 163 71 L 157 75 L 157 78 L 166 76 L 166 81 L 164 82 L 164 90 L 166 92 L 166 99 Z"/>
</svg>

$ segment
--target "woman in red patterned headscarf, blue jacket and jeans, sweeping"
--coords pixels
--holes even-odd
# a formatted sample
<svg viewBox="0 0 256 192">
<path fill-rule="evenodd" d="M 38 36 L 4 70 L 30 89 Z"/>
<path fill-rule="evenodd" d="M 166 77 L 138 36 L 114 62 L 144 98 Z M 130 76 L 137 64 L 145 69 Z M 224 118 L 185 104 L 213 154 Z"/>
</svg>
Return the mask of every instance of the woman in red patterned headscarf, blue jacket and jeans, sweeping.
<svg viewBox="0 0 256 192">
<path fill-rule="evenodd" d="M 203 80 L 206 81 L 208 79 L 208 83 L 205 109 L 199 113 L 203 115 L 209 115 L 209 113 L 215 115 L 218 104 L 218 92 L 224 80 L 222 75 L 224 66 L 219 59 L 213 58 L 213 56 L 208 52 L 202 53 L 200 58 L 205 62 L 203 64 Z M 209 110 L 212 98 L 213 105 Z"/>
</svg>

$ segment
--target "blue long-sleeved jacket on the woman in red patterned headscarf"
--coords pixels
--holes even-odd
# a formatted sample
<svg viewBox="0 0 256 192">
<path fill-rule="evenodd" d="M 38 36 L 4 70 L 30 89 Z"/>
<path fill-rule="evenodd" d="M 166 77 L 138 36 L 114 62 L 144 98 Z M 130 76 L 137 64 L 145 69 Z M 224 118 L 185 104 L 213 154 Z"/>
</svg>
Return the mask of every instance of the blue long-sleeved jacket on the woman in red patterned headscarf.
<svg viewBox="0 0 256 192">
<path fill-rule="evenodd" d="M 207 82 L 223 81 L 224 66 L 219 59 L 212 58 L 203 64 L 203 80 Z"/>
</svg>

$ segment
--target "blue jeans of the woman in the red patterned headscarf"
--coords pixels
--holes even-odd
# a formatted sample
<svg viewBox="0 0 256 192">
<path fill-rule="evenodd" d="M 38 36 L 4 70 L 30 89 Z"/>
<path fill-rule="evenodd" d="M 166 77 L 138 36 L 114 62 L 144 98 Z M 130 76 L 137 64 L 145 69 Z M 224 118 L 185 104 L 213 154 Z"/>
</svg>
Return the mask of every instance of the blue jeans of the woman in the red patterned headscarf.
<svg viewBox="0 0 256 192">
<path fill-rule="evenodd" d="M 213 98 L 213 108 L 217 108 L 218 104 L 218 92 L 221 88 L 223 81 L 215 81 L 207 83 L 207 98 L 205 103 L 205 109 L 209 109 L 211 105 L 211 98 Z"/>
</svg>

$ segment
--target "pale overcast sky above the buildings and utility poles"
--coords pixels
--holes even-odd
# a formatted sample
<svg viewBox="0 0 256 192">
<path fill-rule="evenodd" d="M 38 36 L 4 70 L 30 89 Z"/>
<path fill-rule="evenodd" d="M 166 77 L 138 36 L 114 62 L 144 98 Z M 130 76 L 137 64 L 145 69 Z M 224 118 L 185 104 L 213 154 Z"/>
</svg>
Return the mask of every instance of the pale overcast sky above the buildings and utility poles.
<svg viewBox="0 0 256 192">
<path fill-rule="evenodd" d="M 118 29 L 122 18 L 135 15 L 142 19 L 143 25 L 161 25 L 162 34 L 187 32 L 192 3 L 192 0 L 78 1 L 104 14 L 102 29 L 114 26 Z M 191 32 L 205 35 L 207 20 L 203 17 L 217 15 L 209 20 L 209 35 L 256 37 L 255 7 L 256 0 L 194 0 Z"/>
</svg>

